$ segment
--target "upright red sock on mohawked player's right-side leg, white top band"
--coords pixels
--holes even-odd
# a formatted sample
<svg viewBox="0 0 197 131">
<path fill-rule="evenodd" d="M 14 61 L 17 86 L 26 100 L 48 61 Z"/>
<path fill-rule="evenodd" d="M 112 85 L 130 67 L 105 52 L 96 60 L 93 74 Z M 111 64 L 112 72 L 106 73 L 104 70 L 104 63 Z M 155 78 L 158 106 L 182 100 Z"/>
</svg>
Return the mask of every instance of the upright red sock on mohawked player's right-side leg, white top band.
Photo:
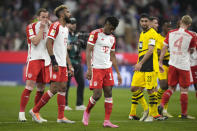
<svg viewBox="0 0 197 131">
<path fill-rule="evenodd" d="M 62 119 L 64 118 L 65 92 L 58 92 L 57 104 L 58 104 L 58 119 Z"/>
</svg>

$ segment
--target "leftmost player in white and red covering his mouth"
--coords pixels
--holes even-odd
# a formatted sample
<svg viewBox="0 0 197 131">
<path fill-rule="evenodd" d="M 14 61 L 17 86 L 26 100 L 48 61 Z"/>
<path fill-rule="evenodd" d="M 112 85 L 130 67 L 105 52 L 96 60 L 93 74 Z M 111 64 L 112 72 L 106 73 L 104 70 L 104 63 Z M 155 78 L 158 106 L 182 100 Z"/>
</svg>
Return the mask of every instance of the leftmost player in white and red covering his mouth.
<svg viewBox="0 0 197 131">
<path fill-rule="evenodd" d="M 41 8 L 37 12 L 38 22 L 29 24 L 26 28 L 28 41 L 28 58 L 26 69 L 26 87 L 21 95 L 19 121 L 26 121 L 25 107 L 30 94 L 37 84 L 34 103 L 38 103 L 44 93 L 45 83 L 49 82 L 50 57 L 46 49 L 46 34 L 49 28 L 49 12 Z M 45 68 L 45 66 L 47 68 Z M 46 74 L 46 73 L 48 74 Z M 48 80 L 46 79 L 48 78 Z M 46 121 L 41 117 L 42 121 Z"/>
</svg>

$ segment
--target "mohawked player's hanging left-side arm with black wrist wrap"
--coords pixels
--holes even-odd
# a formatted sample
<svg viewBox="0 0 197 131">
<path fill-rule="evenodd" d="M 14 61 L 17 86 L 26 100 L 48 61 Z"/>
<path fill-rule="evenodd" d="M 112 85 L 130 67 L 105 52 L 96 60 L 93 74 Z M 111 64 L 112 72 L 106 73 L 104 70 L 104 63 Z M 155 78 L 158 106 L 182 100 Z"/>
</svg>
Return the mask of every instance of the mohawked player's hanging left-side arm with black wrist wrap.
<svg viewBox="0 0 197 131">
<path fill-rule="evenodd" d="M 53 54 L 53 39 L 51 38 L 47 38 L 47 43 L 46 43 L 46 47 L 47 47 L 47 51 L 49 53 L 49 56 L 51 58 L 51 63 L 52 63 L 52 66 L 53 66 L 53 69 L 54 71 L 58 71 L 58 63 L 55 59 L 55 56 Z"/>
</svg>

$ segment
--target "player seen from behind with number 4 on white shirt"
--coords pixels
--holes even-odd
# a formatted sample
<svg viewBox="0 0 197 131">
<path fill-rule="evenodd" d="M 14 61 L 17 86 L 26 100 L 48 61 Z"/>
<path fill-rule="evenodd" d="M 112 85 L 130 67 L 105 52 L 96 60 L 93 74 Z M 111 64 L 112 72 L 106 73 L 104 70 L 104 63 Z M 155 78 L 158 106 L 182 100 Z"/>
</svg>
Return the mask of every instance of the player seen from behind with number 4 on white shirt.
<svg viewBox="0 0 197 131">
<path fill-rule="evenodd" d="M 166 50 L 170 49 L 169 71 L 168 71 L 168 90 L 162 96 L 161 104 L 158 107 L 159 113 L 162 112 L 164 105 L 169 101 L 175 91 L 176 85 L 180 85 L 181 118 L 191 118 L 187 114 L 188 107 L 188 87 L 190 85 L 190 53 L 194 52 L 195 36 L 187 29 L 192 24 L 192 18 L 185 15 L 181 18 L 180 28 L 169 31 L 165 40 L 164 47 L 159 59 L 159 68 L 163 72 L 163 58 Z"/>
</svg>

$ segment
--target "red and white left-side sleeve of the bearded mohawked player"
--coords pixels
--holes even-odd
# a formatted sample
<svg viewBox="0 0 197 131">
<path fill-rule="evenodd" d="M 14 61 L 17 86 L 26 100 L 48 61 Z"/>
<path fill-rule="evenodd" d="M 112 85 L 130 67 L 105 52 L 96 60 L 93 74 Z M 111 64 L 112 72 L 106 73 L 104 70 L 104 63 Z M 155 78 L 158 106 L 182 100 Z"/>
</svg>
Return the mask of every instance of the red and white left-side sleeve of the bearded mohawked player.
<svg viewBox="0 0 197 131">
<path fill-rule="evenodd" d="M 60 26 L 60 24 L 58 24 L 58 23 L 51 24 L 47 37 L 55 40 L 57 37 L 57 34 L 59 32 L 59 26 Z"/>
</svg>

